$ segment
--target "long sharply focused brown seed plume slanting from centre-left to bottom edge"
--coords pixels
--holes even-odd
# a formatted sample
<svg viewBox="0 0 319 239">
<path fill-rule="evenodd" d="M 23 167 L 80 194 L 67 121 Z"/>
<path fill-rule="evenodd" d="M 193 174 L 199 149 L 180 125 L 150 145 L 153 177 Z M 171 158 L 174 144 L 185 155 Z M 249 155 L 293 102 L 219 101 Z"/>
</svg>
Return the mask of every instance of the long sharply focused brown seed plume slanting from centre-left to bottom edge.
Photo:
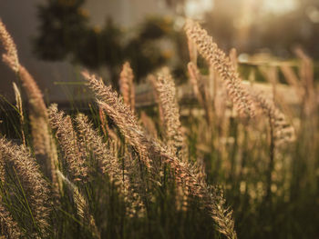
<svg viewBox="0 0 319 239">
<path fill-rule="evenodd" d="M 189 168 L 188 164 L 180 162 L 180 159 L 171 154 L 170 150 L 164 147 L 160 141 L 149 139 L 136 123 L 132 112 L 118 98 L 118 95 L 111 91 L 110 87 L 103 85 L 102 81 L 98 80 L 95 75 L 89 75 L 87 72 L 83 75 L 90 88 L 95 92 L 98 105 L 105 109 L 113 121 L 118 124 L 129 144 L 137 148 L 142 146 L 145 150 L 144 154 L 150 154 L 152 157 L 160 156 L 162 162 L 169 164 L 174 171 L 177 183 L 193 196 L 202 199 L 203 205 L 217 223 L 218 230 L 228 238 L 237 238 L 234 231 L 232 211 L 224 208 L 222 194 L 217 193 L 216 190 L 203 182 L 199 174 L 194 174 L 194 170 Z M 143 161 L 143 163 L 149 164 L 148 161 Z"/>
</svg>

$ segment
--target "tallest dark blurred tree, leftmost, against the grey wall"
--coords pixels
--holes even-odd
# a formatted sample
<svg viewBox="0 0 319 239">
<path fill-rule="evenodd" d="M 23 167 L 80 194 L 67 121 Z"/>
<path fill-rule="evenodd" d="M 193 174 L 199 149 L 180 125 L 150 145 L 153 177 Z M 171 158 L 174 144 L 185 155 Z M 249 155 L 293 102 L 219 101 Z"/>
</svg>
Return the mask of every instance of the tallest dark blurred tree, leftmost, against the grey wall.
<svg viewBox="0 0 319 239">
<path fill-rule="evenodd" d="M 40 35 L 36 38 L 36 54 L 45 60 L 60 60 L 70 53 L 87 32 L 87 15 L 80 6 L 84 0 L 49 0 L 38 6 Z M 76 46 L 77 47 L 77 46 Z"/>
</svg>

